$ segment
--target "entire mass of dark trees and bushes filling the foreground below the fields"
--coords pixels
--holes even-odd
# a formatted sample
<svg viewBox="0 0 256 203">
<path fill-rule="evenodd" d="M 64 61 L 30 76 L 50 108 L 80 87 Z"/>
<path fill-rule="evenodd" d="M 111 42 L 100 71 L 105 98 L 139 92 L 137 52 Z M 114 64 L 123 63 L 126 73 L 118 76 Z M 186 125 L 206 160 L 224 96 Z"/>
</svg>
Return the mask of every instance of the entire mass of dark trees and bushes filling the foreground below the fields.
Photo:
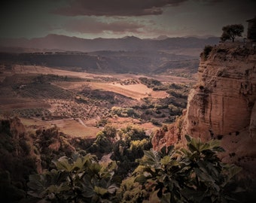
<svg viewBox="0 0 256 203">
<path fill-rule="evenodd" d="M 56 127 L 17 135 L 11 122 L 0 123 L 5 202 L 249 202 L 249 189 L 236 181 L 241 168 L 221 162 L 216 140 L 186 136 L 187 147 L 157 152 L 143 129 L 107 124 L 93 143 L 78 146 Z"/>
</svg>

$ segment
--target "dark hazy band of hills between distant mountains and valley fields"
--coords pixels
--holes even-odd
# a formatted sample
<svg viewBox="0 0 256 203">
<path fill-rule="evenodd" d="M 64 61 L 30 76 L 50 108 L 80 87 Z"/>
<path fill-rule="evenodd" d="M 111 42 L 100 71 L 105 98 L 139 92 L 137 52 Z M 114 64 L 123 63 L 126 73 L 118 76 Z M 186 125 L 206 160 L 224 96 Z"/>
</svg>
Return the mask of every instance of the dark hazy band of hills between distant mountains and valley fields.
<svg viewBox="0 0 256 203">
<path fill-rule="evenodd" d="M 198 62 L 199 60 L 194 56 L 156 51 L 0 53 L 0 64 L 2 65 L 41 65 L 69 71 L 94 73 L 148 74 L 165 73 L 169 70 L 175 72 L 175 70 L 185 68 L 188 73 L 194 74 Z"/>
</svg>

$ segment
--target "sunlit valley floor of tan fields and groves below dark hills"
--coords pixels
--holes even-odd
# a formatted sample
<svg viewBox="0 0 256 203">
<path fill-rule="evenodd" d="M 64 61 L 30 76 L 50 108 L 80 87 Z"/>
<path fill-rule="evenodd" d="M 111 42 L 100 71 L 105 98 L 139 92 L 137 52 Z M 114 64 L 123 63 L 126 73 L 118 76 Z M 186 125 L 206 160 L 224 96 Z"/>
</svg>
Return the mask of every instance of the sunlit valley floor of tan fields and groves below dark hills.
<svg viewBox="0 0 256 203">
<path fill-rule="evenodd" d="M 150 134 L 187 105 L 193 77 L 67 71 L 40 65 L 1 68 L 0 112 L 27 130 L 57 126 L 72 137 L 96 138 L 107 123 Z"/>
</svg>

